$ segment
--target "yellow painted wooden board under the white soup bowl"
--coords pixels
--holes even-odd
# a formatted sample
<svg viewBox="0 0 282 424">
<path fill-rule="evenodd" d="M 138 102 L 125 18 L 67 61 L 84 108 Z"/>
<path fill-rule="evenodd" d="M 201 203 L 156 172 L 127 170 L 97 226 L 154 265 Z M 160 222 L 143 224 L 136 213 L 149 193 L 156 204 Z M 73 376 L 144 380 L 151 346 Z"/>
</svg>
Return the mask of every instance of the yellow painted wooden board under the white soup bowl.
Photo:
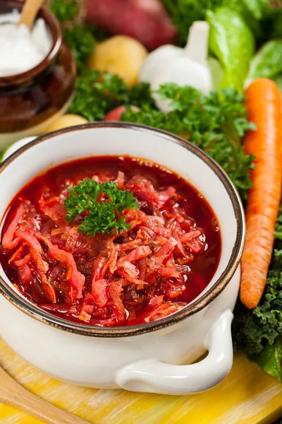
<svg viewBox="0 0 282 424">
<path fill-rule="evenodd" d="M 75 387 L 27 365 L 0 339 L 0 364 L 30 391 L 97 424 L 270 424 L 282 416 L 282 384 L 244 355 L 218 387 L 192 396 Z M 1 424 L 41 424 L 0 404 Z"/>
</svg>

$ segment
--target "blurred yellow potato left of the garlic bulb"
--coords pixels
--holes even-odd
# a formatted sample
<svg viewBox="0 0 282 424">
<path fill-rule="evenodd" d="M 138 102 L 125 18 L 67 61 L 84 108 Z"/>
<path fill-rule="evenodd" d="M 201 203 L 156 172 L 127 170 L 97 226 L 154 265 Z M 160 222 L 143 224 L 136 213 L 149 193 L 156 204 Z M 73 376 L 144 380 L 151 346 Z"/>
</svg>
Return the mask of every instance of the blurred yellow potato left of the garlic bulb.
<svg viewBox="0 0 282 424">
<path fill-rule="evenodd" d="M 147 49 L 126 35 L 116 35 L 99 42 L 89 60 L 92 69 L 116 73 L 128 86 L 138 81 L 138 74 Z"/>
</svg>

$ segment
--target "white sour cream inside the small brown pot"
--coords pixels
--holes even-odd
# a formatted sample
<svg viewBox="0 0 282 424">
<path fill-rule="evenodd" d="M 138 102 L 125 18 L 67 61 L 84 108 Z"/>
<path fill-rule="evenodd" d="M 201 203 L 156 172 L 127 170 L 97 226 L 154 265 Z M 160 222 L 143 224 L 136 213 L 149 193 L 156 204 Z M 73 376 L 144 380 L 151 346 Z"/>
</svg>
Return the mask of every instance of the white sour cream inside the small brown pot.
<svg viewBox="0 0 282 424">
<path fill-rule="evenodd" d="M 37 66 L 51 49 L 52 40 L 42 18 L 30 31 L 17 27 L 20 13 L 0 15 L 0 77 L 22 73 Z"/>
</svg>

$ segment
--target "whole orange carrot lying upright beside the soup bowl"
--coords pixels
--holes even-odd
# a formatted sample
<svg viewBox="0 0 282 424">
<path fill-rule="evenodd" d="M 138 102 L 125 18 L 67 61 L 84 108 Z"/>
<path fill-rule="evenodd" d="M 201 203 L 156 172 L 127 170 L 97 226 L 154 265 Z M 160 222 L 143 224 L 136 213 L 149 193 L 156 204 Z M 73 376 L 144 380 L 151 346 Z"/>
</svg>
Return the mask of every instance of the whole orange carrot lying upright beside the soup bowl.
<svg viewBox="0 0 282 424">
<path fill-rule="evenodd" d="M 245 139 L 245 152 L 255 155 L 253 187 L 248 194 L 247 234 L 242 257 L 240 300 L 256 307 L 264 292 L 274 245 L 274 226 L 281 201 L 281 96 L 276 83 L 259 78 L 246 90 L 249 119 L 257 126 Z"/>
</svg>

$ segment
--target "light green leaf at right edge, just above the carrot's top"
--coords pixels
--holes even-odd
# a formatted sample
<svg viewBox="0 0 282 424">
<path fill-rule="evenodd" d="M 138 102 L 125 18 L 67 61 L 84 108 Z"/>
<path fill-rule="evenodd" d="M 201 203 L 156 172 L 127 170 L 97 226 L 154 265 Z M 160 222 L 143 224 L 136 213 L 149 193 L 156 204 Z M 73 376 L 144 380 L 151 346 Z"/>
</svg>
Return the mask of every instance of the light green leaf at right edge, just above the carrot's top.
<svg viewBox="0 0 282 424">
<path fill-rule="evenodd" d="M 282 40 L 266 42 L 250 64 L 247 83 L 254 78 L 273 78 L 282 72 Z"/>
</svg>

